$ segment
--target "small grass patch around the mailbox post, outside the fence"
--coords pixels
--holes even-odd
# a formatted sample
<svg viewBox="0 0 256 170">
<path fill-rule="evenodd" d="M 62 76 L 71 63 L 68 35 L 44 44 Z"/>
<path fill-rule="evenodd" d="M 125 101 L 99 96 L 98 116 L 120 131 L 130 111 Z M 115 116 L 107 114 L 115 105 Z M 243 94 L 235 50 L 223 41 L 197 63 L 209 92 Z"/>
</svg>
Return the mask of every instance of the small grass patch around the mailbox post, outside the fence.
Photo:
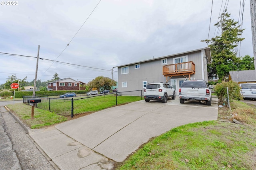
<svg viewBox="0 0 256 170">
<path fill-rule="evenodd" d="M 31 129 L 42 128 L 67 120 L 65 116 L 57 115 L 50 111 L 45 111 L 38 108 L 34 109 L 34 119 L 31 119 L 31 106 L 23 103 L 10 104 L 7 105 L 7 107 L 12 111 L 12 113 L 15 113 L 25 125 L 27 125 Z"/>
</svg>

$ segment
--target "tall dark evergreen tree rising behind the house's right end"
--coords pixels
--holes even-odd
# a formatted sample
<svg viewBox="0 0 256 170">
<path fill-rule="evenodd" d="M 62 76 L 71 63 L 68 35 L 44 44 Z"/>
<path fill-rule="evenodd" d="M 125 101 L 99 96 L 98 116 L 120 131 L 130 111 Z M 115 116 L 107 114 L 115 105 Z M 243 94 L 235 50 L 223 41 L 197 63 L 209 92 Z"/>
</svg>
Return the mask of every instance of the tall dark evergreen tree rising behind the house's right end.
<svg viewBox="0 0 256 170">
<path fill-rule="evenodd" d="M 212 39 L 202 40 L 202 42 L 211 43 L 209 45 L 212 55 L 212 63 L 208 65 L 208 78 L 211 79 L 218 75 L 220 79 L 225 79 L 228 72 L 238 70 L 239 58 L 236 57 L 238 42 L 244 40 L 239 38 L 244 29 L 234 19 L 230 19 L 227 8 L 220 16 L 220 21 L 215 26 L 221 28 L 222 34 Z"/>
</svg>

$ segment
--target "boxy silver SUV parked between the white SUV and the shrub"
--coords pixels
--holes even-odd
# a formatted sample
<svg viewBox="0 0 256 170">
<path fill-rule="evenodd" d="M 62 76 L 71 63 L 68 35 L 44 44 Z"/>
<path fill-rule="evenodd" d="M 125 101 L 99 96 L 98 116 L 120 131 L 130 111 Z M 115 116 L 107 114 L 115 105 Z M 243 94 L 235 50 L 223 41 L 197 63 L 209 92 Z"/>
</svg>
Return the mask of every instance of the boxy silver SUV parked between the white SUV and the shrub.
<svg viewBox="0 0 256 170">
<path fill-rule="evenodd" d="M 211 106 L 213 87 L 204 80 L 186 80 L 179 89 L 180 103 L 185 101 L 198 101 Z"/>
</svg>

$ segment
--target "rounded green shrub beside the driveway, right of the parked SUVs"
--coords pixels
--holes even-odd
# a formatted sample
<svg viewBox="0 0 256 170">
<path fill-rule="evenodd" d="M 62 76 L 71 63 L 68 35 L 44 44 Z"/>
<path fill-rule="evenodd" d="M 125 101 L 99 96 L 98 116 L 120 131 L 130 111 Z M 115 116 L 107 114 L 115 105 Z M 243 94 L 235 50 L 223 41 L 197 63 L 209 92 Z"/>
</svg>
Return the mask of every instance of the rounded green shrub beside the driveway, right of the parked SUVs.
<svg viewBox="0 0 256 170">
<path fill-rule="evenodd" d="M 227 87 L 228 87 L 228 94 L 227 94 Z M 241 88 L 240 86 L 234 82 L 234 81 L 229 81 L 229 82 L 221 82 L 216 84 L 215 88 L 214 88 L 214 92 L 216 94 L 216 96 L 218 96 L 220 103 L 225 103 L 226 99 L 229 96 L 229 100 L 230 102 L 233 101 L 233 99 L 237 99 L 237 100 L 242 100 L 243 96 L 240 93 Z"/>
</svg>

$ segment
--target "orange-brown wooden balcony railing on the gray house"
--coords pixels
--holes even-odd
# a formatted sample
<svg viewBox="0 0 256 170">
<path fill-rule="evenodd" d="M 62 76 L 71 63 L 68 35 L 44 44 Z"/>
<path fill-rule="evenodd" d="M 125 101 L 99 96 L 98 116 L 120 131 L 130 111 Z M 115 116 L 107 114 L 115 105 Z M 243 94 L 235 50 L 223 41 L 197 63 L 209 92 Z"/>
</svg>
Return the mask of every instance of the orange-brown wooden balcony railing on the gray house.
<svg viewBox="0 0 256 170">
<path fill-rule="evenodd" d="M 195 73 L 195 63 L 193 61 L 163 66 L 164 76 L 179 76 Z"/>
</svg>

